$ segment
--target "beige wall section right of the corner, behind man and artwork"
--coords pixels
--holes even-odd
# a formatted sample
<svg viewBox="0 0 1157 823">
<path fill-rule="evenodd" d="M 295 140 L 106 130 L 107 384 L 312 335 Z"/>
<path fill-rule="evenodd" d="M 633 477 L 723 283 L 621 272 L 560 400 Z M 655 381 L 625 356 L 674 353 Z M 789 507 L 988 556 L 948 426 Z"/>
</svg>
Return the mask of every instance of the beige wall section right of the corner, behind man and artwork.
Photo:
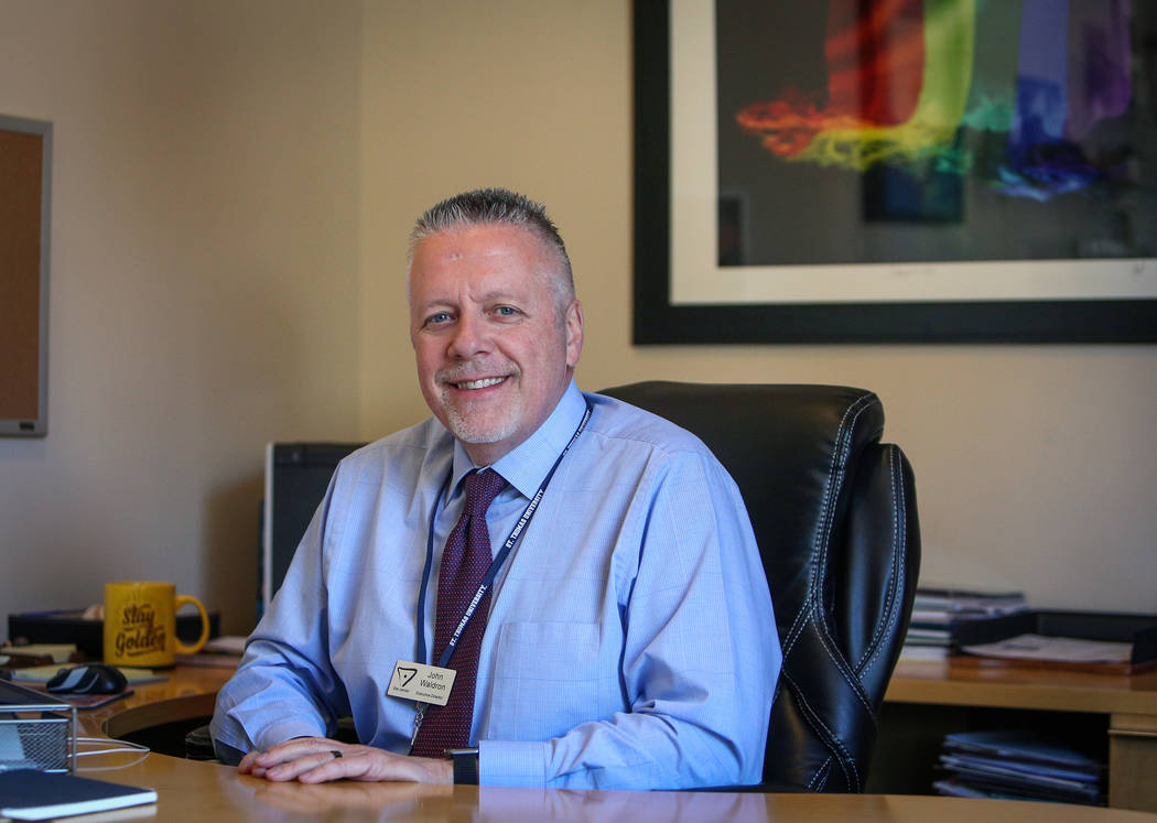
<svg viewBox="0 0 1157 823">
<path fill-rule="evenodd" d="M 1157 611 L 1157 347 L 631 345 L 629 6 L 368 6 L 363 435 L 425 412 L 399 281 L 408 222 L 459 189 L 509 185 L 547 204 L 570 248 L 583 388 L 871 388 L 915 466 L 927 575 L 1003 581 L 1040 607 Z"/>
</svg>

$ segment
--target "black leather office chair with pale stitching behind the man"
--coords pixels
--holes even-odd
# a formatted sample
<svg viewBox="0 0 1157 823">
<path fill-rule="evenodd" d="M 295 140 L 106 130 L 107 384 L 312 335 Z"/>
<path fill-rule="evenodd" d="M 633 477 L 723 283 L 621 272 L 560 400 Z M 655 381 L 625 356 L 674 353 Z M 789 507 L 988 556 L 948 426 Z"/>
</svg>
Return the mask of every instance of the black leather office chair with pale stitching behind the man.
<svg viewBox="0 0 1157 823">
<path fill-rule="evenodd" d="M 743 493 L 783 648 L 760 788 L 862 792 L 920 565 L 912 468 L 838 385 L 603 391 L 694 432 Z"/>
</svg>

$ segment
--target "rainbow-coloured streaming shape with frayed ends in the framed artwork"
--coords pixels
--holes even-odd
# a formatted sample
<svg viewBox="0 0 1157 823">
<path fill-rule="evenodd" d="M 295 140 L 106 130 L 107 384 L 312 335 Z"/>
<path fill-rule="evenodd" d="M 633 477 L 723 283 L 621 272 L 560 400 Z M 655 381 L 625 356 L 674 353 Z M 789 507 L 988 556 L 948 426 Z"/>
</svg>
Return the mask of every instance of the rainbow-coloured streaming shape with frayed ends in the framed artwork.
<svg viewBox="0 0 1157 823">
<path fill-rule="evenodd" d="M 1123 163 L 1082 140 L 1129 106 L 1130 21 L 1130 0 L 830 0 L 826 98 L 788 88 L 736 122 L 790 162 L 1047 200 Z"/>
</svg>

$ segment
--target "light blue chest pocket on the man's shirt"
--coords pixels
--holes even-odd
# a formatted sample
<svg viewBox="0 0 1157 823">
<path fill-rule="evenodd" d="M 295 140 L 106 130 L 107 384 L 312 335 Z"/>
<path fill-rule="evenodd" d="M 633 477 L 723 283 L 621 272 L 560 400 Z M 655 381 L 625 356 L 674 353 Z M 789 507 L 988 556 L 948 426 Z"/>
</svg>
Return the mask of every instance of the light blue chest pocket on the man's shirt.
<svg viewBox="0 0 1157 823">
<path fill-rule="evenodd" d="M 594 623 L 504 624 L 489 725 L 506 740 L 548 740 L 602 719 L 599 656 Z"/>
</svg>

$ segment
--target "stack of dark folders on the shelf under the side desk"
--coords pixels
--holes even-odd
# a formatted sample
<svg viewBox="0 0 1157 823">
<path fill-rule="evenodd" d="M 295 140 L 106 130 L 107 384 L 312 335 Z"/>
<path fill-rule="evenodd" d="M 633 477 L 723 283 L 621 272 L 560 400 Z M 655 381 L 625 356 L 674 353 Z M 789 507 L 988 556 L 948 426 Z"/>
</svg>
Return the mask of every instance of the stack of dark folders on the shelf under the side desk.
<svg viewBox="0 0 1157 823">
<path fill-rule="evenodd" d="M 963 732 L 944 737 L 934 786 L 953 798 L 1105 804 L 1105 766 L 1033 732 Z"/>
</svg>

